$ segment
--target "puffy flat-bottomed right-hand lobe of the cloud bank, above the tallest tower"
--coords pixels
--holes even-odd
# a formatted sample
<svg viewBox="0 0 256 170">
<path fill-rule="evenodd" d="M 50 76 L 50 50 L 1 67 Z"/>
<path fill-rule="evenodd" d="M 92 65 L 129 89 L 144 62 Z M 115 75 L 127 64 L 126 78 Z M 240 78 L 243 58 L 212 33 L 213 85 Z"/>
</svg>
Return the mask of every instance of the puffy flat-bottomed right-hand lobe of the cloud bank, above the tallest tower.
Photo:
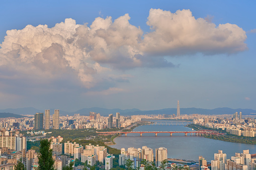
<svg viewBox="0 0 256 170">
<path fill-rule="evenodd" d="M 190 10 L 176 13 L 151 9 L 147 25 L 152 32 L 144 36 L 141 50 L 150 55 L 235 53 L 245 50 L 245 32 L 234 24 L 216 26 L 195 19 Z"/>
</svg>

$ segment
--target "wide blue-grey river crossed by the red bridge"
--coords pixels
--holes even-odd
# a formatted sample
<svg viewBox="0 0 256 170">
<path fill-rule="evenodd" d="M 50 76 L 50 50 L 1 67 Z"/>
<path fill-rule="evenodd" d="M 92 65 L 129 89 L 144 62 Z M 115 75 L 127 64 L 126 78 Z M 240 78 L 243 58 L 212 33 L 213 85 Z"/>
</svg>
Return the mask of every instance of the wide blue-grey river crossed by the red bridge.
<svg viewBox="0 0 256 170">
<path fill-rule="evenodd" d="M 182 125 L 142 125 L 133 129 L 133 131 L 192 131 L 191 128 Z M 256 153 L 256 146 L 253 144 L 233 143 L 215 139 L 208 139 L 203 136 L 187 136 L 184 133 L 129 133 L 115 138 L 114 148 L 128 147 L 142 148 L 150 147 L 154 150 L 158 147 L 167 148 L 169 158 L 179 158 L 198 161 L 198 156 L 202 155 L 208 162 L 214 159 L 214 153 L 223 150 L 227 154 L 227 159 L 235 156 L 235 152 L 242 153 L 242 150 L 249 149 L 249 153 Z"/>
</svg>

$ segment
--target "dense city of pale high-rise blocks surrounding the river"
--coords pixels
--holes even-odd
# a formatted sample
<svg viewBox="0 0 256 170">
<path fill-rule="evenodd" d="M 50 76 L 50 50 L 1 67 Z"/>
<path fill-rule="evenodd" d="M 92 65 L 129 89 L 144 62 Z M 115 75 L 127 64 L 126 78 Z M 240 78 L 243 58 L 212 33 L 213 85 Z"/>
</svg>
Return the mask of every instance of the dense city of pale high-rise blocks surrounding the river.
<svg viewBox="0 0 256 170">
<path fill-rule="evenodd" d="M 235 153 L 227 158 L 222 150 L 214 153 L 214 160 L 206 160 L 198 155 L 198 160 L 182 160 L 179 157 L 169 158 L 165 147 L 153 149 L 147 146 L 142 148 L 121 148 L 112 151 L 108 147 L 115 144 L 114 139 L 122 134 L 129 133 L 184 133 L 205 137 L 239 138 L 237 142 L 252 142 L 255 144 L 256 119 L 251 115 L 242 115 L 241 112 L 224 115 L 181 114 L 178 101 L 177 114 L 158 115 L 132 115 L 122 116 L 120 113 L 109 114 L 108 117 L 100 113 L 90 112 L 88 116 L 79 114 L 60 115 L 59 110 L 50 110 L 35 115 L 24 115 L 22 118 L 1 118 L 0 154 L 2 169 L 13 169 L 17 160 L 21 160 L 26 169 L 33 170 L 38 167 L 39 143 L 43 139 L 50 141 L 50 149 L 57 170 L 64 169 L 70 162 L 74 162 L 74 169 L 97 168 L 106 170 L 111 168 L 144 168 L 143 160 L 154 162 L 158 168 L 164 169 L 213 169 L 213 170 L 254 170 L 256 167 L 256 153 L 249 150 Z M 132 131 L 138 126 L 188 126 L 190 131 Z M 76 136 L 65 135 L 70 130 Z M 55 131 L 53 131 L 55 130 Z M 69 133 L 69 132 L 68 132 Z M 80 133 L 88 133 L 85 138 Z M 54 135 L 53 135 L 54 134 Z M 64 136 L 61 136 L 64 135 Z M 241 136 L 243 136 L 241 138 Z M 127 136 L 128 137 L 128 136 Z M 160 136 L 161 137 L 161 136 Z M 246 137 L 246 138 L 244 138 Z M 77 140 L 78 139 L 78 140 Z M 77 142 L 78 141 L 78 142 Z M 82 142 L 80 142 L 82 141 Z M 87 142 L 84 142 L 87 141 Z M 96 142 L 95 144 L 90 143 Z M 97 141 L 104 141 L 97 144 Z M 88 143 L 89 142 L 89 143 Z M 36 145 L 36 143 L 38 145 Z M 29 146 L 28 146 L 29 145 Z M 143 145 L 143 143 L 142 143 Z M 172 151 L 169 151 L 172 153 Z M 203 154 L 203 153 L 202 153 Z M 255 157 L 255 158 L 254 158 Z M 114 161 L 114 162 L 113 162 Z"/>
</svg>

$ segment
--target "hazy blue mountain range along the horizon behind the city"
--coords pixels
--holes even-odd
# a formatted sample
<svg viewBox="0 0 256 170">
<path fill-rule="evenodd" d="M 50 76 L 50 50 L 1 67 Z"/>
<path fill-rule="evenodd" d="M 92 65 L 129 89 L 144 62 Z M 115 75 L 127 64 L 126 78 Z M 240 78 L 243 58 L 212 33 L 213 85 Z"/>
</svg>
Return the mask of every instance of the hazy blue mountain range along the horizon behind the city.
<svg viewBox="0 0 256 170">
<path fill-rule="evenodd" d="M 216 108 L 216 109 L 201 109 L 201 108 L 181 108 L 181 114 L 233 114 L 235 112 L 242 112 L 243 115 L 245 114 L 255 114 L 256 110 L 253 109 L 231 109 L 228 107 Z M 109 114 L 115 114 L 119 112 L 121 115 L 129 116 L 129 115 L 138 115 L 138 114 L 176 114 L 177 108 L 166 108 L 166 109 L 159 109 L 159 110 L 139 110 L 139 109 L 105 109 L 100 107 L 92 107 L 92 108 L 83 108 L 77 110 L 75 112 L 67 112 L 60 110 L 60 115 L 89 115 L 90 111 L 100 113 L 102 116 L 108 116 Z M 0 109 L 1 112 L 6 113 L 14 113 L 14 114 L 35 114 L 35 113 L 44 113 L 44 110 L 35 109 L 33 107 L 25 107 L 25 108 L 17 108 L 17 109 Z M 54 109 L 50 109 L 50 114 L 54 113 Z"/>
</svg>

